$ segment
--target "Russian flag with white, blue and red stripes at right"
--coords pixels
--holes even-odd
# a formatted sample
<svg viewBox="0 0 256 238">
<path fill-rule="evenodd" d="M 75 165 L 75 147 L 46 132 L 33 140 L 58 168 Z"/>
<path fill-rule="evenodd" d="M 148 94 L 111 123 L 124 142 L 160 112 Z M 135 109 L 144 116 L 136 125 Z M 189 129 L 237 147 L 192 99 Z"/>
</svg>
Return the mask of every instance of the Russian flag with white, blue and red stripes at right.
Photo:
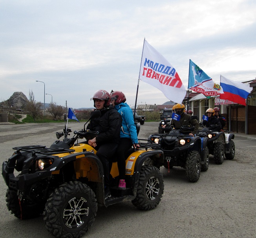
<svg viewBox="0 0 256 238">
<path fill-rule="evenodd" d="M 246 84 L 239 83 L 220 76 L 220 85 L 223 89 L 223 94 L 219 94 L 220 99 L 227 99 L 232 102 L 239 103 L 246 106 L 246 98 L 251 93 L 252 88 Z"/>
</svg>

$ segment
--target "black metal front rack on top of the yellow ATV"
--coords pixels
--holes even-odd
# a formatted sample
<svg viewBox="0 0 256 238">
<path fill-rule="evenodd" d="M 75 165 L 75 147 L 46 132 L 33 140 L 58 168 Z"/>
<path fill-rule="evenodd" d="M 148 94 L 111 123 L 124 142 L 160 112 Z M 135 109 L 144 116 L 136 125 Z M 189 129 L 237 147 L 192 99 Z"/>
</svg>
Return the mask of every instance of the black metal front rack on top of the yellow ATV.
<svg viewBox="0 0 256 238">
<path fill-rule="evenodd" d="M 30 153 L 36 154 L 62 154 L 62 153 L 71 153 L 74 152 L 74 149 L 64 149 L 64 148 L 46 148 L 44 145 L 29 145 L 29 146 L 20 146 L 20 147 L 13 147 L 13 149 L 17 151 L 26 151 Z"/>
</svg>

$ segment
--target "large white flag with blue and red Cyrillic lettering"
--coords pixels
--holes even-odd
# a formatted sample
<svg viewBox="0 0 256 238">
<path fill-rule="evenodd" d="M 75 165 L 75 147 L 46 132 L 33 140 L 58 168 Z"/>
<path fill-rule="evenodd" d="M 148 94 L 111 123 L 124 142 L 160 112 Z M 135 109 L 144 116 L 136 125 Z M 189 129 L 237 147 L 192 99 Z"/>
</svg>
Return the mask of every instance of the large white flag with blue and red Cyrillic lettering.
<svg viewBox="0 0 256 238">
<path fill-rule="evenodd" d="M 144 40 L 139 79 L 158 88 L 169 100 L 182 103 L 186 89 L 176 69 Z"/>
</svg>

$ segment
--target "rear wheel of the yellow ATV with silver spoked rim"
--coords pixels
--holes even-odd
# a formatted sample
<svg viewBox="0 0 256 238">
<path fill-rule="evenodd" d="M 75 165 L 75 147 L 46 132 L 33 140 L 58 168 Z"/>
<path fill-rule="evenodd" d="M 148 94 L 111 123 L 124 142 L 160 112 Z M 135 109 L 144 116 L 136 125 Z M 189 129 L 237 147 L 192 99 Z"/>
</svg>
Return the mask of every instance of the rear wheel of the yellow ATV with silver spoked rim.
<svg viewBox="0 0 256 238">
<path fill-rule="evenodd" d="M 141 210 L 151 210 L 159 204 L 163 192 L 164 180 L 159 169 L 155 166 L 142 166 L 137 194 L 132 204 Z"/>
</svg>

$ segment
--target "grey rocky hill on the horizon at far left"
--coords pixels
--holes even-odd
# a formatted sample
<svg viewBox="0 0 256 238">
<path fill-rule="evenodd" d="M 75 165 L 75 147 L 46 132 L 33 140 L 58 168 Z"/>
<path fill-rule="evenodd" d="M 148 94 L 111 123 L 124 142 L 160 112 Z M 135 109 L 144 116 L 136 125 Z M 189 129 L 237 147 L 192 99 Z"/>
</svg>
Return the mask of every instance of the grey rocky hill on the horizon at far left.
<svg viewBox="0 0 256 238">
<path fill-rule="evenodd" d="M 0 102 L 0 107 L 13 107 L 16 109 L 23 109 L 27 103 L 28 99 L 26 95 L 22 92 L 15 92 L 13 95 L 6 101 Z"/>
</svg>

